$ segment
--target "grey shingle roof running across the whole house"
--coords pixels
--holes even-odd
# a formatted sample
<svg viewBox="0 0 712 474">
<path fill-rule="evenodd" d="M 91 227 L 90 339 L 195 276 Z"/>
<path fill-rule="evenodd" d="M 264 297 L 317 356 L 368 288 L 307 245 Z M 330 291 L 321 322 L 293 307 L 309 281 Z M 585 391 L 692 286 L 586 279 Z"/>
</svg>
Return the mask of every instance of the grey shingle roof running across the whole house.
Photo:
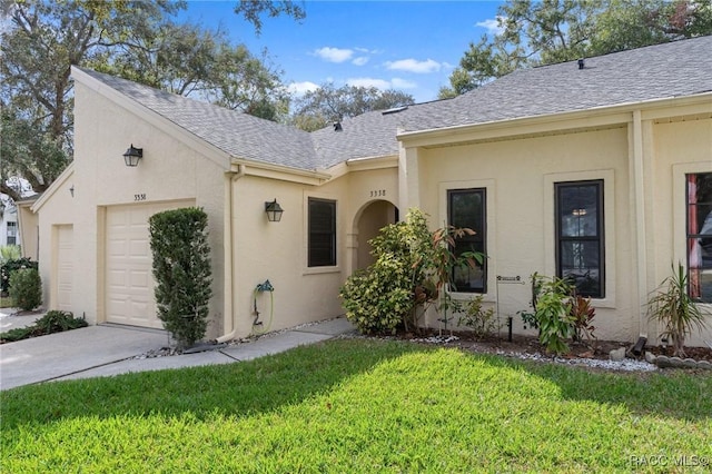
<svg viewBox="0 0 712 474">
<path fill-rule="evenodd" d="M 396 132 L 585 110 L 712 91 L 712 36 L 515 71 L 448 100 L 372 111 L 307 134 L 83 69 L 234 157 L 301 169 L 394 155 Z"/>
</svg>

